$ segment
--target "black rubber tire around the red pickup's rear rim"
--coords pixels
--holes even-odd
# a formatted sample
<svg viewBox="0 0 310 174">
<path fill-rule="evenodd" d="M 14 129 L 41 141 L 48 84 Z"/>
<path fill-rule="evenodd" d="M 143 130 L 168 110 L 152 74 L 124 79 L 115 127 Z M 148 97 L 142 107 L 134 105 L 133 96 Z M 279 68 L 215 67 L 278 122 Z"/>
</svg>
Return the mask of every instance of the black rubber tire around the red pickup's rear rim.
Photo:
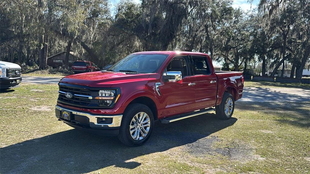
<svg viewBox="0 0 310 174">
<path fill-rule="evenodd" d="M 228 98 L 232 99 L 232 112 L 229 115 L 226 115 L 226 113 L 225 113 L 225 102 Z M 235 99 L 233 98 L 232 94 L 225 92 L 223 95 L 221 104 L 218 106 L 215 106 L 216 116 L 222 120 L 228 120 L 232 117 L 234 110 L 235 110 Z"/>
</svg>

